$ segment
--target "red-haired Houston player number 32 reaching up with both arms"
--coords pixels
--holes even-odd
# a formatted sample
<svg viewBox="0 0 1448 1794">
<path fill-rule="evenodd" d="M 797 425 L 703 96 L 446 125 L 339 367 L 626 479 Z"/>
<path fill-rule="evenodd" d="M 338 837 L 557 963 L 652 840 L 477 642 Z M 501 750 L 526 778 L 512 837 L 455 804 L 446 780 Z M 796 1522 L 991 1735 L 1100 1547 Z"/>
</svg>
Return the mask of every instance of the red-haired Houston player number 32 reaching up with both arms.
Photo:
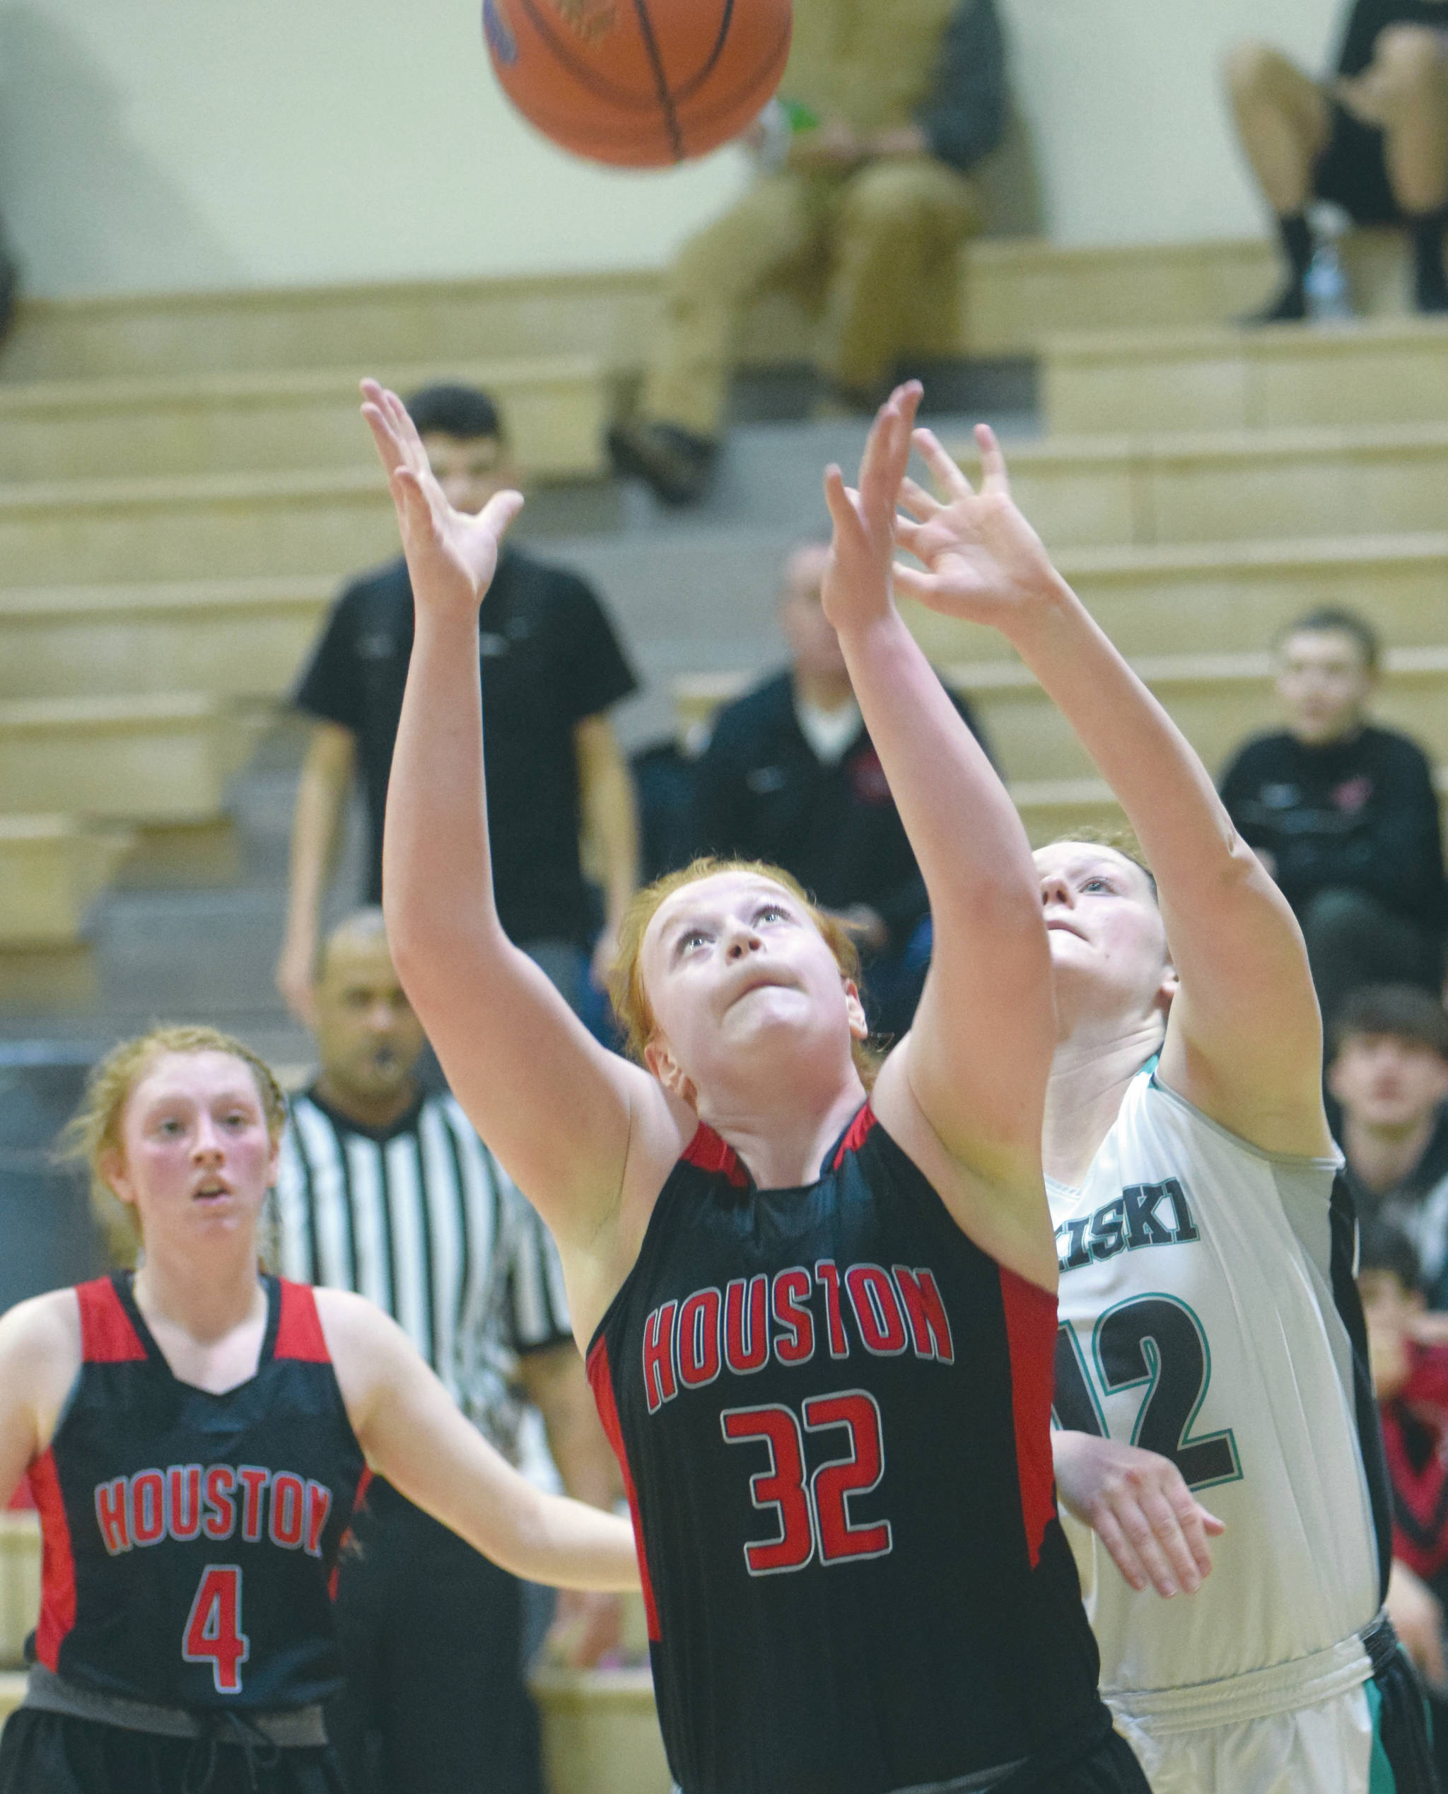
<svg viewBox="0 0 1448 1794">
<path fill-rule="evenodd" d="M 764 867 L 644 893 L 644 1067 L 499 927 L 477 608 L 517 493 L 454 513 L 366 384 L 416 597 L 384 841 L 397 969 L 558 1238 L 642 1545 L 684 1794 L 1143 1789 L 1055 1512 L 1041 1179 L 1050 962 L 1021 823 L 890 592 L 919 388 L 825 481 L 834 624 L 935 917 L 913 1032 L 863 1062 L 843 938 Z"/>
</svg>

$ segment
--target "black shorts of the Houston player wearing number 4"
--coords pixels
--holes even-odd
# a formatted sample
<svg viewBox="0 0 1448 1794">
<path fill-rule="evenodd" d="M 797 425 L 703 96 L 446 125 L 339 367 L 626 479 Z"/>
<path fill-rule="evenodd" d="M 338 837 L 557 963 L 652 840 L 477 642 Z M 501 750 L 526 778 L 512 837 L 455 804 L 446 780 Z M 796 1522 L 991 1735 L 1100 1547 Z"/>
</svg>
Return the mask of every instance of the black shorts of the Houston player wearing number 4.
<svg viewBox="0 0 1448 1794">
<path fill-rule="evenodd" d="M 20 1706 L 0 1733 L 0 1794 L 346 1794 L 328 1747 L 251 1753 Z"/>
</svg>

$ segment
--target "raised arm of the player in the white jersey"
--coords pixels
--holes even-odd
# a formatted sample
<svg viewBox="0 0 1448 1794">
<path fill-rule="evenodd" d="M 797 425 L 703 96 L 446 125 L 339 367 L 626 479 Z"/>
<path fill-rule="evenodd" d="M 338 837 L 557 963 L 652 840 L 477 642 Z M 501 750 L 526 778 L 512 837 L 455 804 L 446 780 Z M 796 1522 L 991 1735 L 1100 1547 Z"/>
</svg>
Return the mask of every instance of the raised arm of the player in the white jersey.
<svg viewBox="0 0 1448 1794">
<path fill-rule="evenodd" d="M 981 425 L 976 440 L 978 495 L 935 436 L 917 432 L 940 499 L 906 481 L 913 522 L 899 540 L 924 570 L 901 567 L 895 583 L 1010 640 L 1136 829 L 1181 978 L 1163 1080 L 1263 1150 L 1326 1154 L 1322 1030 L 1297 922 L 1197 753 L 1016 508 L 994 434 Z"/>
</svg>

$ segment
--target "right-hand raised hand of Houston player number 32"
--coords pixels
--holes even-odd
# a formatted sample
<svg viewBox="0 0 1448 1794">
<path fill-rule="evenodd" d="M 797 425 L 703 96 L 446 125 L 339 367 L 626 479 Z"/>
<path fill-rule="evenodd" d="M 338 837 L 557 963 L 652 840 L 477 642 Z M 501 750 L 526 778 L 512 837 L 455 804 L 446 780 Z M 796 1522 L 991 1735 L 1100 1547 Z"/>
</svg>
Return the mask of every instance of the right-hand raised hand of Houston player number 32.
<svg viewBox="0 0 1448 1794">
<path fill-rule="evenodd" d="M 825 468 L 825 504 L 834 535 L 820 599 L 836 630 L 858 628 L 890 608 L 895 502 L 910 463 L 910 431 L 920 391 L 919 380 L 908 380 L 876 413 L 859 457 L 858 488 L 845 484 L 834 463 Z"/>
</svg>

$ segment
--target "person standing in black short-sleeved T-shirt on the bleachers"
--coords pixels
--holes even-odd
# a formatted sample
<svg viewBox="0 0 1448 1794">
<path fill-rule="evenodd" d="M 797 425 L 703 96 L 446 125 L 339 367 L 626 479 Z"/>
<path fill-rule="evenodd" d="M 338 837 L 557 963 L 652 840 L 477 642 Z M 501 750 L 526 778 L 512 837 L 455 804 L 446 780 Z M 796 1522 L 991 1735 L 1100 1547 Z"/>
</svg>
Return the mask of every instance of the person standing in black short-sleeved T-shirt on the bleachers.
<svg viewBox="0 0 1448 1794">
<path fill-rule="evenodd" d="M 432 472 L 458 509 L 517 484 L 492 402 L 434 386 L 411 400 Z M 637 883 L 637 823 L 610 705 L 635 680 L 592 590 L 508 545 L 483 601 L 483 752 L 497 908 L 508 935 L 567 1001 L 587 1006 L 596 902 L 580 827 L 605 868 L 596 963 Z M 368 813 L 366 902 L 382 899 L 382 814 L 413 651 L 413 590 L 398 556 L 337 599 L 296 703 L 316 719 L 292 823 L 287 935 L 276 983 L 312 1019 L 318 917 L 353 771 Z"/>
</svg>

